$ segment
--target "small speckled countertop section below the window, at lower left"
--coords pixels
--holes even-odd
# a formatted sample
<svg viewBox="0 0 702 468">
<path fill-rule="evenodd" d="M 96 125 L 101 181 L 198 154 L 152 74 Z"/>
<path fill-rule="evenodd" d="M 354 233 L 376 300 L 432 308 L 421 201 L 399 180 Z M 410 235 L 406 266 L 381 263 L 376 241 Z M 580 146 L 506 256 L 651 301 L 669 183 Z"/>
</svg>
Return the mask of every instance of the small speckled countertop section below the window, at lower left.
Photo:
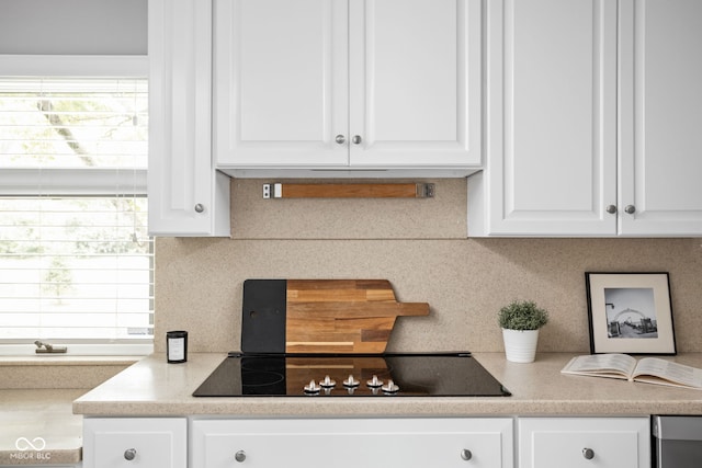
<svg viewBox="0 0 702 468">
<path fill-rule="evenodd" d="M 82 418 L 71 404 L 84 392 L 0 390 L 0 466 L 79 463 Z"/>
</svg>

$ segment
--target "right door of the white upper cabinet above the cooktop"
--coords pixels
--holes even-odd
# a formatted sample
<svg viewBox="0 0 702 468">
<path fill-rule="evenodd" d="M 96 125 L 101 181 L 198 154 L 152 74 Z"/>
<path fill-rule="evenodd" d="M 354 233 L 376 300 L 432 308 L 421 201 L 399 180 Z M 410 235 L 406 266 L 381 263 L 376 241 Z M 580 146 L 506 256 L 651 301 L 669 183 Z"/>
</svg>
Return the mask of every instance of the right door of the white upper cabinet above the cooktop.
<svg viewBox="0 0 702 468">
<path fill-rule="evenodd" d="M 480 163 L 479 0 L 350 3 L 351 165 Z"/>
</svg>

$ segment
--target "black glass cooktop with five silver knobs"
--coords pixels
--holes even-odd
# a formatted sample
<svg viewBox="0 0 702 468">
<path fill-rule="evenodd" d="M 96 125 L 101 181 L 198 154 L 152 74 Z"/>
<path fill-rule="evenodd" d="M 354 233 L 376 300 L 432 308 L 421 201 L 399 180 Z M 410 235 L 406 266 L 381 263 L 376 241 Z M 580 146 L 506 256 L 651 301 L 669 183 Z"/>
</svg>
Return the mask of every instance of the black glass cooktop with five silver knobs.
<svg viewBox="0 0 702 468">
<path fill-rule="evenodd" d="M 239 354 L 194 397 L 508 397 L 469 353 Z"/>
</svg>

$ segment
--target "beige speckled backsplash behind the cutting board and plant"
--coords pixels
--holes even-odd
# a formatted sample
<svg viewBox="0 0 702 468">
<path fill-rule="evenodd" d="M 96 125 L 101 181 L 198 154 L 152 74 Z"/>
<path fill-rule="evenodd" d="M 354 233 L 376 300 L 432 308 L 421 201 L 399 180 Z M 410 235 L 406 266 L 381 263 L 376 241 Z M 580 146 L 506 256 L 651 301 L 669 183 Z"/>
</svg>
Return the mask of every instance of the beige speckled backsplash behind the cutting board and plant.
<svg viewBox="0 0 702 468">
<path fill-rule="evenodd" d="M 680 352 L 702 352 L 702 239 L 466 239 L 466 181 L 431 199 L 261 198 L 233 180 L 231 239 L 158 238 L 156 351 L 188 330 L 191 352 L 239 349 L 247 278 L 386 278 L 399 318 L 388 351 L 502 351 L 497 310 L 532 299 L 552 315 L 539 351 L 588 352 L 585 272 L 669 272 Z"/>
</svg>

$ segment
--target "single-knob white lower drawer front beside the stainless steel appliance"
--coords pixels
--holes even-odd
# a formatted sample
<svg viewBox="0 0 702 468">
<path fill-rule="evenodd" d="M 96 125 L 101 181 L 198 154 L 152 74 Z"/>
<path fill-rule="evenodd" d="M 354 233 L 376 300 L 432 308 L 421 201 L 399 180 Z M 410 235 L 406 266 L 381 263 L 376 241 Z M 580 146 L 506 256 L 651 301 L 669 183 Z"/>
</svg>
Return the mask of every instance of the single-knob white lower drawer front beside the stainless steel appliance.
<svg viewBox="0 0 702 468">
<path fill-rule="evenodd" d="M 648 418 L 520 418 L 521 468 L 648 468 Z"/>
</svg>

